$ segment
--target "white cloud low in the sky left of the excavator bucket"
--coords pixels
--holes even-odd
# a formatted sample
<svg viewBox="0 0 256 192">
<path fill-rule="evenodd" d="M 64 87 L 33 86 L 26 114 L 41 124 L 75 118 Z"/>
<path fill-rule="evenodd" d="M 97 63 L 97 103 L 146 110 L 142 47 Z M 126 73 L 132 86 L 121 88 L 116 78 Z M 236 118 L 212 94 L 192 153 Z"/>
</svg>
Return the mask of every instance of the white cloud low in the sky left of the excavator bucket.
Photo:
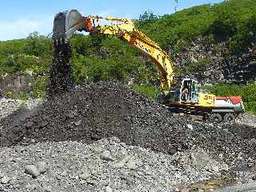
<svg viewBox="0 0 256 192">
<path fill-rule="evenodd" d="M 17 18 L 12 21 L 0 20 L 0 40 L 26 38 L 30 33 L 38 31 L 39 34 L 50 34 L 54 16 L 38 16 L 36 18 Z"/>
</svg>

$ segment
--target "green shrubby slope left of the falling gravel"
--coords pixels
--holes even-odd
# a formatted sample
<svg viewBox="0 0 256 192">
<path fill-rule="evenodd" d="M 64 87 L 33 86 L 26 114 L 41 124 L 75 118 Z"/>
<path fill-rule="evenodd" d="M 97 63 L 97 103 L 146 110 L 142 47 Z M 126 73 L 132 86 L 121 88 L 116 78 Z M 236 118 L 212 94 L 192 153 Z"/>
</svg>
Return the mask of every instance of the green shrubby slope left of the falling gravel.
<svg viewBox="0 0 256 192">
<path fill-rule="evenodd" d="M 52 49 L 50 39 L 37 32 L 26 39 L 0 42 L 0 74 L 46 71 L 50 68 Z"/>
</svg>

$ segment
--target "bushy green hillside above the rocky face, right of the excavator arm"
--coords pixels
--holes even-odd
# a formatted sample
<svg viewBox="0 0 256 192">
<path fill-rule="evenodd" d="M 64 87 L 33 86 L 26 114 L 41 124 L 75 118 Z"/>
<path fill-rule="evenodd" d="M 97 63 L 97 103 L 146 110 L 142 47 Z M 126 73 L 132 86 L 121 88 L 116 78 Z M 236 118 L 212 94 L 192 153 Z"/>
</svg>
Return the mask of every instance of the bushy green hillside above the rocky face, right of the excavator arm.
<svg viewBox="0 0 256 192">
<path fill-rule="evenodd" d="M 142 22 L 139 27 L 151 38 L 167 48 L 179 39 L 214 38 L 231 44 L 241 42 L 246 46 L 250 32 L 256 31 L 256 2 L 230 0 L 214 5 L 194 6 L 160 19 Z M 152 33 L 154 31 L 154 33 Z"/>
</svg>

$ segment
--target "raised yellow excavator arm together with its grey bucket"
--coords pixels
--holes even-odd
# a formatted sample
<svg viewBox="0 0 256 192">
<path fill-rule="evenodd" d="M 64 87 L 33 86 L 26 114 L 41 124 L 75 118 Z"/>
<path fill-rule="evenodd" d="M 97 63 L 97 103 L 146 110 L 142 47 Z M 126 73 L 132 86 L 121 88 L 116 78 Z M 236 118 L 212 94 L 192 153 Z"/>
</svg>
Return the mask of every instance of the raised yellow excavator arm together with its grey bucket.
<svg viewBox="0 0 256 192">
<path fill-rule="evenodd" d="M 111 25 L 100 25 L 100 20 L 116 22 Z M 165 50 L 150 38 L 137 30 L 134 23 L 126 18 L 102 18 L 99 16 L 83 17 L 77 10 L 70 10 L 56 15 L 54 19 L 54 44 L 66 43 L 76 30 L 97 34 L 114 35 L 123 42 L 138 48 L 151 58 L 154 65 L 161 71 L 160 88 L 163 94 L 170 90 L 174 82 L 173 63 Z"/>
</svg>

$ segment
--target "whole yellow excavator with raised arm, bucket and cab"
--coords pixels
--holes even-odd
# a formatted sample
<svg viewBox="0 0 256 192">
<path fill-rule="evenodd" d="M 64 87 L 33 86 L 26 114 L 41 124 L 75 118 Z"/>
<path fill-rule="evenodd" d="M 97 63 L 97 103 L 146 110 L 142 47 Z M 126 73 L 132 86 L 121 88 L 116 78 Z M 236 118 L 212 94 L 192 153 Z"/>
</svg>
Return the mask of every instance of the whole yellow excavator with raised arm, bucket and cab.
<svg viewBox="0 0 256 192">
<path fill-rule="evenodd" d="M 111 24 L 101 25 L 101 21 Z M 58 13 L 54 18 L 54 45 L 65 44 L 77 30 L 90 34 L 116 36 L 146 54 L 162 73 L 160 78 L 162 93 L 158 94 L 158 101 L 171 111 L 202 114 L 218 121 L 234 120 L 244 112 L 240 96 L 216 97 L 201 90 L 198 81 L 194 78 L 175 77 L 174 64 L 166 51 L 136 29 L 130 19 L 82 16 L 78 10 Z"/>
</svg>

